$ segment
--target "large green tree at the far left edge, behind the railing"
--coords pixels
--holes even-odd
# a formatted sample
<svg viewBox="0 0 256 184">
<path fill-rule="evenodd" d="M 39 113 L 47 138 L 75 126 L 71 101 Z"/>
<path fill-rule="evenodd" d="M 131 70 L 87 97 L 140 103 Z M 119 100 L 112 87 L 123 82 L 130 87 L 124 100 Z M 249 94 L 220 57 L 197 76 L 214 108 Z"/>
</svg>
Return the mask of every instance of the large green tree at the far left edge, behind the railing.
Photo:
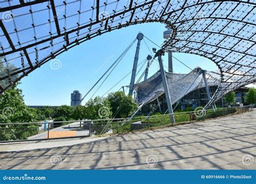
<svg viewBox="0 0 256 184">
<path fill-rule="evenodd" d="M 37 119 L 35 110 L 28 108 L 23 100 L 22 90 L 16 86 L 6 90 L 0 96 L 0 139 L 26 139 L 38 133 L 38 125 L 7 125 L 8 123 L 34 122 Z"/>
</svg>

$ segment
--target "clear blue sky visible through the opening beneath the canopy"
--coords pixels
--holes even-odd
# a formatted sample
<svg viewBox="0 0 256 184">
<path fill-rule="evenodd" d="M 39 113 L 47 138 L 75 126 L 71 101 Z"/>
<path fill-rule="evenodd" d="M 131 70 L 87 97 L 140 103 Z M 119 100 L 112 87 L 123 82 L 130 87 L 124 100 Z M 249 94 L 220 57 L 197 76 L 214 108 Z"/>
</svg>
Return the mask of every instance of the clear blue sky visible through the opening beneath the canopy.
<svg viewBox="0 0 256 184">
<path fill-rule="evenodd" d="M 160 23 L 138 24 L 102 34 L 102 36 L 71 48 L 68 52 L 57 56 L 56 59 L 60 61 L 61 65 L 59 69 L 52 69 L 51 62 L 48 62 L 21 80 L 22 83 L 18 87 L 23 90 L 25 103 L 27 105 L 70 105 L 72 91 L 79 90 L 82 96 L 87 93 L 107 68 L 112 65 L 114 60 L 136 38 L 138 32 L 142 32 L 147 38 L 161 45 L 164 41 L 164 30 L 166 30 L 165 26 Z M 145 41 L 150 49 L 156 47 L 147 39 Z M 107 90 L 132 70 L 136 44 L 137 41 L 95 96 L 105 94 Z M 139 63 L 145 60 L 147 54 L 150 54 L 149 49 L 142 41 Z M 206 70 L 218 69 L 215 63 L 198 55 L 173 53 L 173 56 L 186 63 L 190 68 L 200 66 Z M 167 54 L 163 56 L 163 60 L 164 65 L 167 66 Z M 139 75 L 145 67 L 146 64 L 144 63 Z M 149 70 L 149 76 L 157 72 L 157 68 L 157 62 L 153 63 Z M 165 69 L 167 70 L 167 68 Z M 173 59 L 173 70 L 175 73 L 188 73 L 191 71 L 176 59 Z M 131 75 L 127 76 L 111 91 L 117 91 L 120 87 L 129 85 L 130 77 Z M 83 104 L 93 93 L 94 90 L 85 98 Z"/>
</svg>

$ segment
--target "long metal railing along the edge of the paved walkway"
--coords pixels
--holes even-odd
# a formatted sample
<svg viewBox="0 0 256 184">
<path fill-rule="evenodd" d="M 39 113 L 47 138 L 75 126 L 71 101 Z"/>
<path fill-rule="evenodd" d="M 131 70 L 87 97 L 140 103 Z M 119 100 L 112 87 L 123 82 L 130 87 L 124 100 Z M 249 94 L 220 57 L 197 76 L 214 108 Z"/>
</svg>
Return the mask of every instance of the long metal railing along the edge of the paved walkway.
<svg viewBox="0 0 256 184">
<path fill-rule="evenodd" d="M 195 111 L 189 112 L 176 112 L 172 115 L 176 119 L 174 125 L 178 125 L 243 114 L 253 109 L 254 105 L 246 105 L 244 107 L 218 108 L 215 111 L 213 109 L 196 109 Z M 0 123 L 0 143 L 91 137 L 106 133 L 126 133 L 171 125 L 169 116 L 170 114 L 83 121 Z"/>
</svg>

